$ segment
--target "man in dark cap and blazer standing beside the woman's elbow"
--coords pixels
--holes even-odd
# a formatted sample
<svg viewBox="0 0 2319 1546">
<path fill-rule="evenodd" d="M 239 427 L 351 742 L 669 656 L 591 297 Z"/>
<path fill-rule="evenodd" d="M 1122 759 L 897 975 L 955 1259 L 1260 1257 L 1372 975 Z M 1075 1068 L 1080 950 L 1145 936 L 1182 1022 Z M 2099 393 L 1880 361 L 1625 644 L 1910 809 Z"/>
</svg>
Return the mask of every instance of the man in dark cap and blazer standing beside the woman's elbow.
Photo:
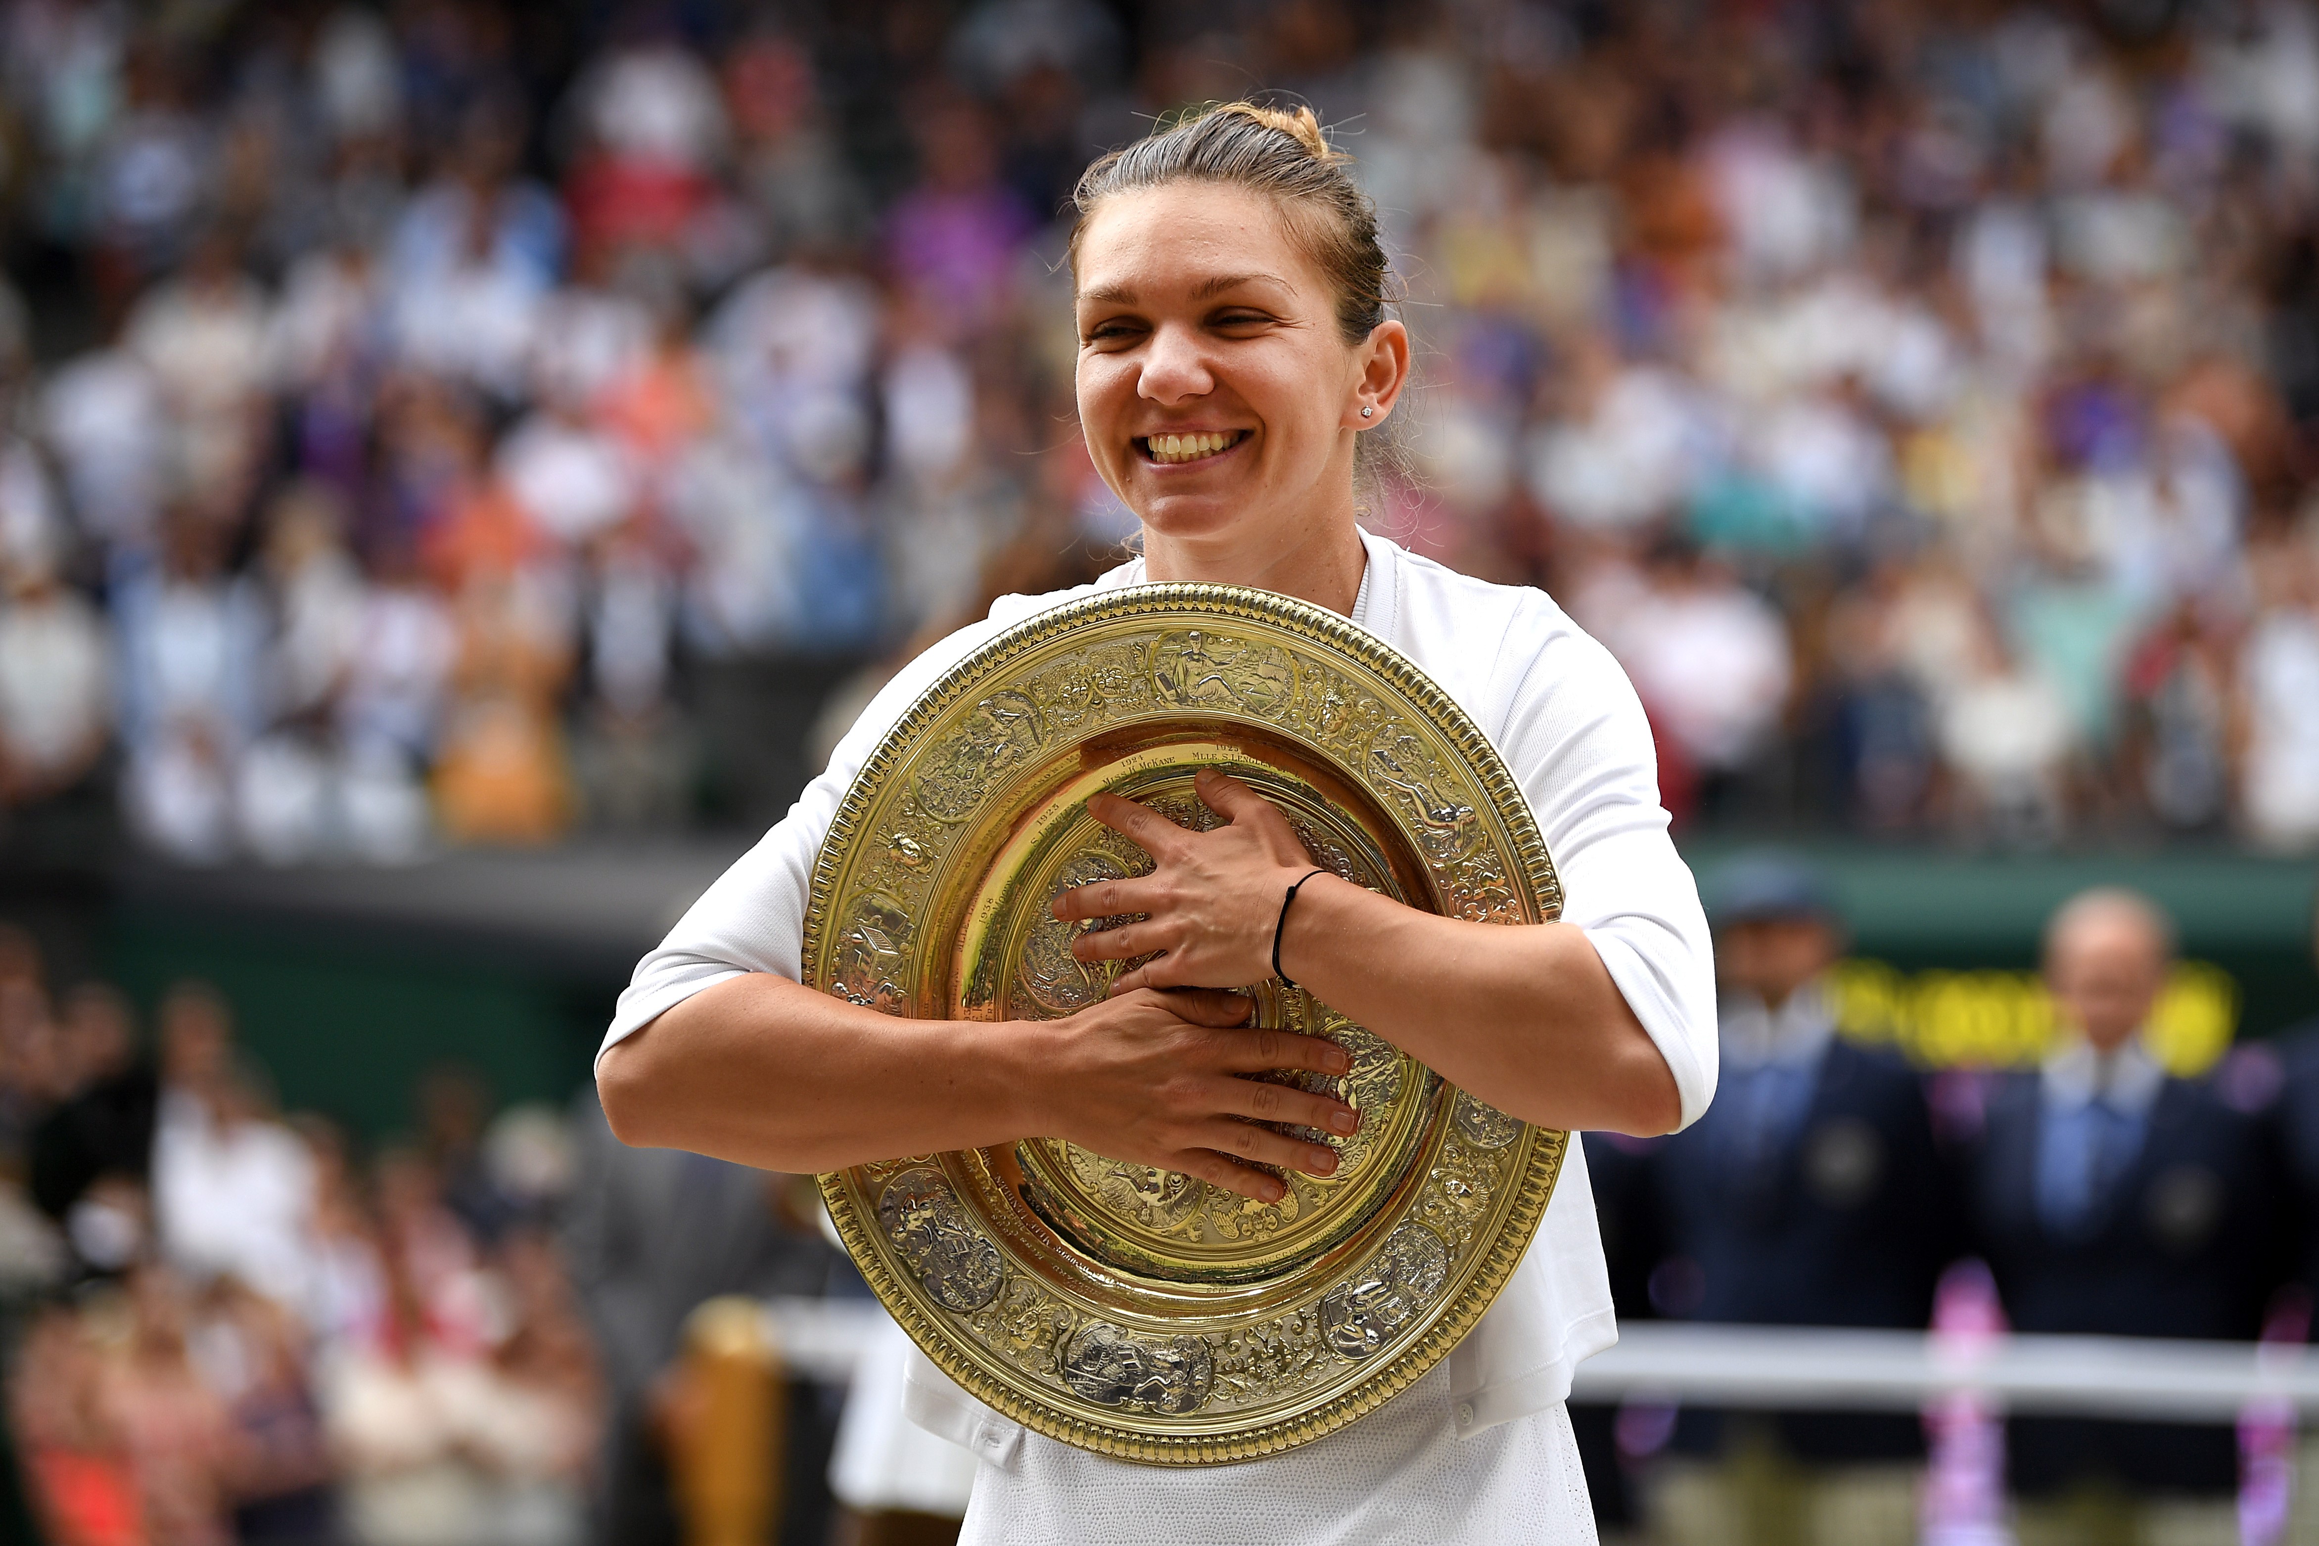
<svg viewBox="0 0 2319 1546">
<path fill-rule="evenodd" d="M 1844 934 L 1820 878 L 1744 860 L 1709 918 L 1723 1073 L 1707 1115 L 1653 1157 L 1667 1249 L 1653 1303 L 1695 1321 L 1925 1328 L 1962 1238 L 1953 1187 L 1918 1073 L 1837 1036 L 1827 969 Z M 1913 1416 L 1686 1412 L 1658 1534 L 1911 1544 L 1922 1456 Z"/>
</svg>

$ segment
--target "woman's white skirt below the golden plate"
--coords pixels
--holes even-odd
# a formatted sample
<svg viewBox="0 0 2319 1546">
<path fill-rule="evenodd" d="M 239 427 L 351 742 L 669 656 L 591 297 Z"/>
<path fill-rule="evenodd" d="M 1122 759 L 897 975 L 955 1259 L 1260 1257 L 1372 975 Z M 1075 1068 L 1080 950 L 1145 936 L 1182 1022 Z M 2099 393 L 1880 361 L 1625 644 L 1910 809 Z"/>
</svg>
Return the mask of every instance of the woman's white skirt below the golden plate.
<svg viewBox="0 0 2319 1546">
<path fill-rule="evenodd" d="M 1593 1546 L 1570 1414 L 1547 1407 L 1456 1437 L 1449 1370 L 1361 1421 L 1245 1465 L 1106 1460 L 1034 1432 L 979 1465 L 960 1546 Z"/>
</svg>

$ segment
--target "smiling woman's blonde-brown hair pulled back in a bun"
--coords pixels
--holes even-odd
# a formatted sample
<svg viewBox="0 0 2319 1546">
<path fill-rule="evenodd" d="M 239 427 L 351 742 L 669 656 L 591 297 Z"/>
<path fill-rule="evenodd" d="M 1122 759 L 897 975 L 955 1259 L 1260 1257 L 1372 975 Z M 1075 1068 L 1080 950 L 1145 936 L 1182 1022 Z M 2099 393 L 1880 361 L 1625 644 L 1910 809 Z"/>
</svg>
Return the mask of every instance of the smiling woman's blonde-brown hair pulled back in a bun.
<svg viewBox="0 0 2319 1546">
<path fill-rule="evenodd" d="M 1359 343 L 1384 320 L 1384 246 L 1377 206 L 1352 181 L 1352 158 L 1333 148 L 1310 107 L 1282 111 L 1224 102 L 1178 118 L 1125 151 L 1102 155 L 1078 178 L 1071 204 L 1071 271 L 1095 206 L 1115 192 L 1164 183 L 1229 183 L 1268 195 L 1287 218 L 1289 239 L 1336 290 L 1336 327 Z"/>
</svg>

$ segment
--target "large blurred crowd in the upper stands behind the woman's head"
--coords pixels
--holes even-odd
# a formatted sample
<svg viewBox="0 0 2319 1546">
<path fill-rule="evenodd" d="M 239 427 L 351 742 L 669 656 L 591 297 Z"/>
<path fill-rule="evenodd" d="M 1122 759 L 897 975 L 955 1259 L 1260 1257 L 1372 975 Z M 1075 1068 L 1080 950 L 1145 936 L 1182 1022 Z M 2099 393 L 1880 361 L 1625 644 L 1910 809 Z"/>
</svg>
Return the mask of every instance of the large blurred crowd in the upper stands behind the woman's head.
<svg viewBox="0 0 2319 1546">
<path fill-rule="evenodd" d="M 190 16 L 0 9 L 12 804 L 696 816 L 703 672 L 1132 533 L 1057 209 L 1266 88 L 1408 290 L 1371 519 L 1609 642 L 1679 818 L 2319 841 L 2307 5 Z"/>
</svg>

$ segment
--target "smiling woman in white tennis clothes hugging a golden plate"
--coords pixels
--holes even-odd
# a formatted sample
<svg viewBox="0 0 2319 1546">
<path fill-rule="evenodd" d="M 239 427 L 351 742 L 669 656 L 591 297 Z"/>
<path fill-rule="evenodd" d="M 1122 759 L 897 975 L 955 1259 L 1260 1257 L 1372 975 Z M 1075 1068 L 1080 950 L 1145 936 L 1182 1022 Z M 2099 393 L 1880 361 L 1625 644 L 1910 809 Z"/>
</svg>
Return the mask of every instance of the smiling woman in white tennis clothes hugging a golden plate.
<svg viewBox="0 0 2319 1546">
<path fill-rule="evenodd" d="M 809 992 L 814 858 L 853 776 L 951 665 L 1083 591 L 1004 598 L 895 677 L 788 818 L 638 967 L 598 1059 L 615 1131 L 782 1171 L 1060 1138 L 1278 1201 L 1280 1171 L 1336 1171 L 1296 1129 L 1354 1133 L 1361 1115 L 1250 1078 L 1347 1066 L 1326 1041 L 1243 1024 L 1231 990 L 1275 973 L 1512 1117 L 1628 1133 L 1695 1120 L 1716 1075 L 1707 925 L 1633 688 L 1540 591 L 1468 579 L 1357 522 L 1361 445 L 1408 387 L 1410 338 L 1384 315 L 1375 213 L 1345 158 L 1310 111 L 1236 102 L 1099 160 L 1078 211 L 1081 429 L 1143 524 L 1143 554 L 1088 591 L 1259 586 L 1396 647 L 1505 758 L 1554 855 L 1561 920 L 1438 918 L 1326 874 L 1278 807 L 1211 770 L 1197 790 L 1217 821 L 1201 832 L 1088 802 L 1153 860 L 1055 899 L 1064 923 L 1143 916 L 1074 932 L 1083 962 L 1148 957 L 1111 999 L 969 1024 Z M 932 1365 L 911 1412 L 983 1458 L 972 1541 L 1591 1541 L 1561 1402 L 1614 1335 L 1572 1145 L 1466 1342 L 1303 1449 L 1155 1472 L 1023 1432 Z"/>
</svg>

